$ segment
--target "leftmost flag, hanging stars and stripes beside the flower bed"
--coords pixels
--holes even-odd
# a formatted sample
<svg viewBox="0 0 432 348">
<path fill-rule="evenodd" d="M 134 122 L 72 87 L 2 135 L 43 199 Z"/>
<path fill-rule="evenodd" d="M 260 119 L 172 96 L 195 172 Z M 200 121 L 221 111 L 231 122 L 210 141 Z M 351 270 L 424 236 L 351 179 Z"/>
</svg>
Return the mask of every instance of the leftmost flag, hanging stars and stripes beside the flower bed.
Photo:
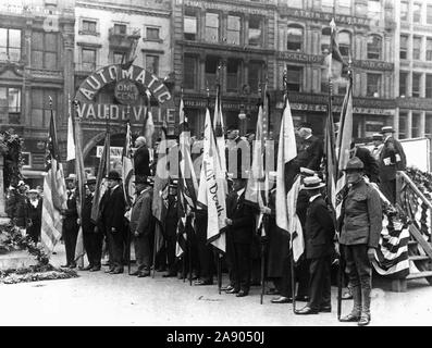
<svg viewBox="0 0 432 348">
<path fill-rule="evenodd" d="M 62 236 L 63 224 L 60 212 L 62 209 L 66 209 L 67 199 L 52 107 L 47 142 L 46 170 L 40 239 L 44 248 L 50 254 Z"/>
</svg>

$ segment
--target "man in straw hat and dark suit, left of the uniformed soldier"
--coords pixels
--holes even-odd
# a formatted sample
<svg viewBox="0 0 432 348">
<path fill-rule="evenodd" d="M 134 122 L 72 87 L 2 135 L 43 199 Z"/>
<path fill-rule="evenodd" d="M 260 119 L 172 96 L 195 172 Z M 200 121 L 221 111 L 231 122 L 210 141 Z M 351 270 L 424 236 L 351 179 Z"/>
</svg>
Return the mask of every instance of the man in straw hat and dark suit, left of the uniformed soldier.
<svg viewBox="0 0 432 348">
<path fill-rule="evenodd" d="M 306 258 L 309 260 L 309 301 L 296 314 L 318 314 L 332 310 L 330 266 L 334 224 L 321 195 L 324 186 L 318 176 L 304 178 L 304 190 L 309 196 L 304 233 Z"/>
</svg>

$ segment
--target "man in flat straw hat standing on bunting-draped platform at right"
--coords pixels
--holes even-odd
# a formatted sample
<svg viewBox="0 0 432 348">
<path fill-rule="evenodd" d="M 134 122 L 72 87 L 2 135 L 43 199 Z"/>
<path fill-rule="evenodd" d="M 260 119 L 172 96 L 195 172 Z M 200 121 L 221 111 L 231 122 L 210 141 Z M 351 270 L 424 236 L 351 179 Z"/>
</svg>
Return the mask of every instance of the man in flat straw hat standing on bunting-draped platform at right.
<svg viewBox="0 0 432 348">
<path fill-rule="evenodd" d="M 405 171 L 407 160 L 404 148 L 393 135 L 392 126 L 381 128 L 384 145 L 380 153 L 380 188 L 392 204 L 396 202 L 396 171 Z"/>
</svg>

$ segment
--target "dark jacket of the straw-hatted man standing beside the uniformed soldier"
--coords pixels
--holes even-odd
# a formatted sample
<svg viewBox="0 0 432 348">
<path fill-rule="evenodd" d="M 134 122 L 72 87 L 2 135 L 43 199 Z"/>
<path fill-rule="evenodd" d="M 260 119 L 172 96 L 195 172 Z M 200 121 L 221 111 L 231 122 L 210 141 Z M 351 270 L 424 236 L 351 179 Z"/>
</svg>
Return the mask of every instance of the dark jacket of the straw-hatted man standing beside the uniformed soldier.
<svg viewBox="0 0 432 348">
<path fill-rule="evenodd" d="M 306 258 L 318 259 L 333 252 L 334 224 L 322 197 L 316 198 L 306 213 Z"/>
</svg>

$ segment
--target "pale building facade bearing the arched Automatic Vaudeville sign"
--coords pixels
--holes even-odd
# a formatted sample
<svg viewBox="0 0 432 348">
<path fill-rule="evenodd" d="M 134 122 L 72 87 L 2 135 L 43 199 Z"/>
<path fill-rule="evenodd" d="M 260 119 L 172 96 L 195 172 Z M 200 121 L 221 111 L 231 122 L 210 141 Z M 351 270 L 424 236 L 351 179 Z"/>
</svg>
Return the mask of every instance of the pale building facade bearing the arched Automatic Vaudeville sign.
<svg viewBox="0 0 432 348">
<path fill-rule="evenodd" d="M 131 120 L 133 133 L 141 133 L 147 108 L 157 128 L 166 120 L 170 130 L 174 130 L 173 103 L 158 102 L 158 92 L 165 92 L 161 98 L 165 101 L 163 83 L 173 72 L 171 5 L 170 0 L 76 1 L 74 88 L 81 101 L 77 116 L 82 120 L 85 166 L 89 172 L 99 162 L 98 146 L 103 145 L 107 127 L 114 162 L 119 162 L 119 148 L 124 146 L 125 121 Z M 132 45 L 136 46 L 133 65 L 122 69 Z M 83 94 L 82 88 L 90 90 L 90 95 Z M 118 98 L 120 89 L 129 100 Z"/>
</svg>

